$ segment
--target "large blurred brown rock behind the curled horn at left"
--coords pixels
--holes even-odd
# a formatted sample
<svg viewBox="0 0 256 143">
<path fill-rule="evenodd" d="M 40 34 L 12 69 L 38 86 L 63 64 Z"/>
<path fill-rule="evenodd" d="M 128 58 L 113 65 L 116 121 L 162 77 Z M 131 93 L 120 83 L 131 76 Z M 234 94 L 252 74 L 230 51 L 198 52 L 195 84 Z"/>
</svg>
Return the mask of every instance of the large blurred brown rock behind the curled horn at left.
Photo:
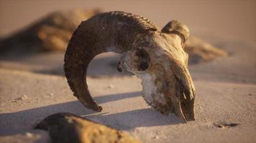
<svg viewBox="0 0 256 143">
<path fill-rule="evenodd" d="M 1 39 L 0 51 L 65 50 L 78 24 L 98 13 L 98 10 L 83 9 L 52 12 L 6 39 Z"/>
</svg>

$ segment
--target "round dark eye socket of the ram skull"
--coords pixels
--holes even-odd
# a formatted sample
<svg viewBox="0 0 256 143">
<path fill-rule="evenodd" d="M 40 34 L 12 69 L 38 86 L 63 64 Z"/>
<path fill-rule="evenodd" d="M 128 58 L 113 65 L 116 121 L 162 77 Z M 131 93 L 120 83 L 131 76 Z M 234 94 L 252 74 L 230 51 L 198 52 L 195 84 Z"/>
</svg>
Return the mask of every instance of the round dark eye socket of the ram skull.
<svg viewBox="0 0 256 143">
<path fill-rule="evenodd" d="M 144 49 L 137 49 L 134 63 L 138 71 L 145 71 L 150 66 L 150 55 Z"/>
</svg>

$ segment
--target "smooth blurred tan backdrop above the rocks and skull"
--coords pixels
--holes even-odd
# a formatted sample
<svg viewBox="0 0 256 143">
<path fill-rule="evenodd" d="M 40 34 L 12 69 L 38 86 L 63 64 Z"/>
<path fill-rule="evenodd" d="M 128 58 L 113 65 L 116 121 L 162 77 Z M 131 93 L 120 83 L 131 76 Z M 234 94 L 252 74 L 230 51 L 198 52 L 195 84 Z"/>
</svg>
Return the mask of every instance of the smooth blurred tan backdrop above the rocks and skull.
<svg viewBox="0 0 256 143">
<path fill-rule="evenodd" d="M 207 29 L 237 40 L 256 41 L 255 0 L 0 0 L 0 36 L 11 34 L 51 11 L 77 8 L 132 12 L 159 27 L 177 19 L 187 24 L 192 34 Z"/>
</svg>

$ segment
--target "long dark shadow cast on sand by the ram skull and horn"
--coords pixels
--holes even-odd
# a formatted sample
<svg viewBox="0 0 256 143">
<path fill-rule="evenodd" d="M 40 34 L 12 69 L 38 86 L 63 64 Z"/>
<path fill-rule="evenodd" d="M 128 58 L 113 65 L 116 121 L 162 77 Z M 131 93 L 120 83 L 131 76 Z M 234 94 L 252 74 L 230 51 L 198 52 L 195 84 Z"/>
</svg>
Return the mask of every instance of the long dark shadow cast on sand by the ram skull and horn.
<svg viewBox="0 0 256 143">
<path fill-rule="evenodd" d="M 95 97 L 95 99 L 99 104 L 102 104 L 119 99 L 138 97 L 140 95 L 141 92 L 129 92 L 125 94 L 111 94 Z M 102 113 L 98 113 L 93 112 L 91 109 L 86 109 L 80 102 L 74 101 L 27 109 L 20 112 L 0 114 L 0 135 L 14 134 L 15 130 L 31 129 L 48 115 L 58 112 L 77 114 L 86 119 L 91 119 L 94 122 L 99 122 L 120 130 L 180 123 L 175 115 L 170 114 L 169 116 L 164 116 L 151 108 L 136 109 L 115 114 L 104 113 L 104 110 Z"/>
</svg>

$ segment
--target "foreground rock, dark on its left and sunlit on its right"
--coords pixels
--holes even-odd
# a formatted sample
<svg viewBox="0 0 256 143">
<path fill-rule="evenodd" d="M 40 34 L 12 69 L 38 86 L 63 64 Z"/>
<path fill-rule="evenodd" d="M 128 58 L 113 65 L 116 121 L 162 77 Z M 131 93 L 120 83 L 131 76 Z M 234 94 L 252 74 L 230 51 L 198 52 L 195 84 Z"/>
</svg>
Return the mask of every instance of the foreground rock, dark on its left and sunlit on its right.
<svg viewBox="0 0 256 143">
<path fill-rule="evenodd" d="M 35 129 L 49 132 L 52 142 L 55 143 L 140 143 L 129 134 L 102 124 L 78 117 L 70 113 L 52 114 L 43 119 Z"/>
</svg>

